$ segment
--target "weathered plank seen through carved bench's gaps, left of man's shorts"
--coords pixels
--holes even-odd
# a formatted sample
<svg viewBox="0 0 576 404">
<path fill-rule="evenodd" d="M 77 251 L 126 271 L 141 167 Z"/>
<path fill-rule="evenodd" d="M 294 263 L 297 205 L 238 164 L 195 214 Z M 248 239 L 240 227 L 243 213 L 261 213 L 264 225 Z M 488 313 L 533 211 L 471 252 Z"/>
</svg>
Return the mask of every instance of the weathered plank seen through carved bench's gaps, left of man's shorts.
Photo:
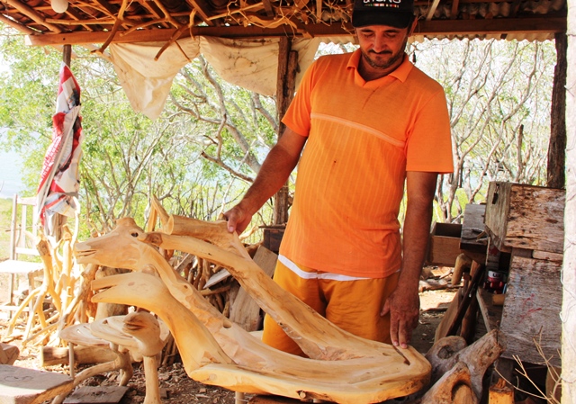
<svg viewBox="0 0 576 404">
<path fill-rule="evenodd" d="M 278 256 L 275 253 L 262 246 L 258 247 L 254 256 L 254 262 L 271 277 L 274 274 L 277 259 Z M 247 331 L 257 331 L 262 325 L 260 307 L 244 288 L 240 288 L 238 296 L 230 307 L 230 319 Z"/>
</svg>

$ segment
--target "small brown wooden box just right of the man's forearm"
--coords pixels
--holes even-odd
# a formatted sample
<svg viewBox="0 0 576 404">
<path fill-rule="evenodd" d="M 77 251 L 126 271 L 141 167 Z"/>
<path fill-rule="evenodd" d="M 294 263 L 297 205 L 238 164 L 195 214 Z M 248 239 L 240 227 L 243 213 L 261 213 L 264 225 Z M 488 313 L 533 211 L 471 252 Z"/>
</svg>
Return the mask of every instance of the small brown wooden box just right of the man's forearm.
<svg viewBox="0 0 576 404">
<path fill-rule="evenodd" d="M 428 246 L 428 265 L 454 266 L 460 255 L 462 225 L 457 223 L 434 223 Z"/>
</svg>

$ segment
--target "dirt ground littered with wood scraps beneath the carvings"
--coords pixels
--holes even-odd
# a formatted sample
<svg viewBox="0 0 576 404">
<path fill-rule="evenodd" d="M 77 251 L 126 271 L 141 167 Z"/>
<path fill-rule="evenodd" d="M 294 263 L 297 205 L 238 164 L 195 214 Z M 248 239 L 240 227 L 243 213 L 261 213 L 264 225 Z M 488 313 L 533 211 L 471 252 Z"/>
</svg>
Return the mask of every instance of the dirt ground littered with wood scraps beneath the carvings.
<svg viewBox="0 0 576 404">
<path fill-rule="evenodd" d="M 412 341 L 412 346 L 420 353 L 425 354 L 433 345 L 437 325 L 442 320 L 444 310 L 447 304 L 454 298 L 454 294 L 454 289 L 420 293 L 421 315 L 419 326 L 414 332 Z M 7 318 L 4 314 L 3 317 L 0 317 L 0 334 L 3 336 L 6 326 Z M 19 322 L 17 329 L 23 331 L 23 327 L 24 324 Z M 14 339 L 9 343 L 20 347 L 21 340 Z M 15 365 L 31 369 L 40 369 L 39 357 L 39 348 L 26 347 L 21 350 Z M 76 373 L 84 368 L 85 366 L 80 368 L 76 367 Z M 43 370 L 69 374 L 67 364 L 49 366 Z M 158 374 L 160 388 L 164 395 L 163 401 L 166 404 L 234 404 L 235 402 L 235 394 L 232 391 L 194 382 L 186 375 L 181 363 L 160 367 Z M 105 373 L 86 380 L 81 386 L 117 386 L 117 379 L 117 372 Z M 128 388 L 129 390 L 120 401 L 121 404 L 140 404 L 144 401 L 146 388 L 141 364 L 134 364 L 134 376 L 130 379 Z"/>
</svg>

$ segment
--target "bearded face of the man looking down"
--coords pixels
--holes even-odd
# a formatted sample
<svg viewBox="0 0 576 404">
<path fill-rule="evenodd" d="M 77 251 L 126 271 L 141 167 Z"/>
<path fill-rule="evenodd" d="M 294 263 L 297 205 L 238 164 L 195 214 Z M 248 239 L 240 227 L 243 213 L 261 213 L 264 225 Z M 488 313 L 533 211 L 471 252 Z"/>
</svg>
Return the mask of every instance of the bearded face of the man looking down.
<svg viewBox="0 0 576 404">
<path fill-rule="evenodd" d="M 406 49 L 410 28 L 411 26 L 394 28 L 387 25 L 356 28 L 358 44 L 365 62 L 378 70 L 398 67 Z"/>
</svg>

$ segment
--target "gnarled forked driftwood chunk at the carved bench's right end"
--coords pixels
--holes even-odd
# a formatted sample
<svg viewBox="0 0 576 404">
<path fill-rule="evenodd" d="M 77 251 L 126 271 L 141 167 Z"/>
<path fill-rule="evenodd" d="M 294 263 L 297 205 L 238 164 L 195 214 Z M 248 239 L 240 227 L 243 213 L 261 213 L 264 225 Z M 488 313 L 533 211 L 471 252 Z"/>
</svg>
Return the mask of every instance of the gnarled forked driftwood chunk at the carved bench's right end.
<svg viewBox="0 0 576 404">
<path fill-rule="evenodd" d="M 471 374 L 473 391 L 476 397 L 482 397 L 482 378 L 486 369 L 504 352 L 506 342 L 499 330 L 484 335 L 471 346 L 465 346 L 462 337 L 440 339 L 430 348 L 426 358 L 432 364 L 432 383 L 452 369 L 455 364 L 463 362 Z"/>
</svg>

